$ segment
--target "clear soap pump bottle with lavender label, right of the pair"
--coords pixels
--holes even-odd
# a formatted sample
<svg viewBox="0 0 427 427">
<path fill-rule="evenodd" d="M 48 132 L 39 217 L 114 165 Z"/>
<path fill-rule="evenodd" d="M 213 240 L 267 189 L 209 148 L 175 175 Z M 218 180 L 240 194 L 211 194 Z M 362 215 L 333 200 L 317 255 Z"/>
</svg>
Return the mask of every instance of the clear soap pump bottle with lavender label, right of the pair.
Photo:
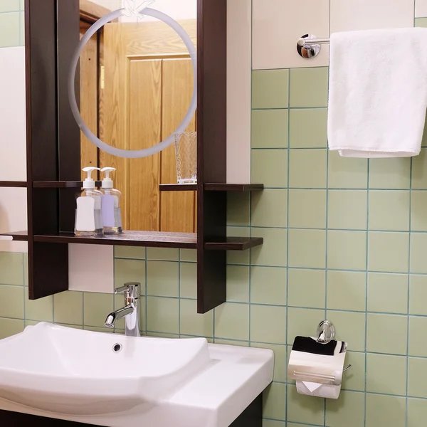
<svg viewBox="0 0 427 427">
<path fill-rule="evenodd" d="M 105 167 L 101 172 L 105 172 L 105 178 L 102 179 L 102 224 L 105 234 L 122 233 L 122 210 L 120 209 L 120 201 L 122 193 L 112 187 L 111 172 L 114 172 L 114 167 Z"/>
</svg>

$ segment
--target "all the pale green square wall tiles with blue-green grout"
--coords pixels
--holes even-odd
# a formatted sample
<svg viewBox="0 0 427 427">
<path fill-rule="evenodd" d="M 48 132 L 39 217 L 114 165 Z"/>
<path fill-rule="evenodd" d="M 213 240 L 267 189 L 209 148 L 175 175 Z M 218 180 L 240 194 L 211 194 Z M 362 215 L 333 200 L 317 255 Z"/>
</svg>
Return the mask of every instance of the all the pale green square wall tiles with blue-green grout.
<svg viewBox="0 0 427 427">
<path fill-rule="evenodd" d="M 21 9 L 1 0 L 0 46 L 23 43 Z M 142 282 L 144 333 L 273 349 L 264 427 L 423 427 L 427 139 L 413 159 L 328 152 L 327 85 L 327 68 L 253 70 L 252 179 L 266 189 L 231 196 L 228 231 L 265 243 L 228 253 L 226 304 L 196 314 L 195 251 L 117 247 L 115 282 Z M 29 301 L 26 283 L 26 255 L 0 253 L 0 338 L 43 320 L 110 332 L 122 305 L 90 292 Z M 295 335 L 325 317 L 353 365 L 338 401 L 298 395 L 286 374 Z"/>
</svg>

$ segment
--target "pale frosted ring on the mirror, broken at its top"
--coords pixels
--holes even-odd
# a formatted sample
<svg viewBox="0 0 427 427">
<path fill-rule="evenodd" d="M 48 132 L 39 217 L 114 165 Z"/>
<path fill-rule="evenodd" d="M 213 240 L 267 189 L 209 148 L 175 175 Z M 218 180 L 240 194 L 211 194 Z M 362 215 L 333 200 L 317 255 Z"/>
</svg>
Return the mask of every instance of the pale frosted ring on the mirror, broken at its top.
<svg viewBox="0 0 427 427">
<path fill-rule="evenodd" d="M 167 25 L 169 25 L 184 42 L 187 50 L 189 51 L 191 64 L 193 66 L 193 73 L 194 73 L 193 96 L 191 97 L 189 109 L 187 110 L 186 115 L 184 116 L 184 119 L 182 120 L 182 122 L 178 125 L 178 127 L 176 127 L 176 130 L 172 132 L 172 134 L 169 135 L 169 137 L 164 139 L 162 142 L 159 142 L 159 144 L 154 145 L 154 147 L 149 147 L 149 148 L 139 149 L 139 150 L 127 150 L 127 149 L 119 149 L 117 147 L 111 147 L 111 145 L 108 145 L 105 142 L 102 142 L 101 139 L 99 139 L 89 129 L 89 127 L 85 124 L 82 116 L 80 115 L 80 110 L 78 108 L 77 100 L 75 98 L 75 87 L 74 87 L 75 71 L 77 70 L 80 53 L 82 53 L 83 48 L 85 48 L 86 46 L 86 43 L 88 43 L 90 38 L 106 23 L 109 23 L 113 19 L 120 18 L 120 16 L 122 16 L 122 11 L 125 11 L 125 9 L 118 9 L 117 11 L 112 11 L 110 14 L 102 16 L 102 18 L 99 21 L 95 22 L 93 26 L 91 26 L 88 29 L 88 31 L 86 31 L 85 35 L 81 38 L 80 43 L 78 44 L 78 48 L 75 51 L 74 56 L 71 60 L 70 75 L 68 76 L 68 100 L 70 102 L 71 111 L 73 112 L 75 121 L 80 127 L 80 130 L 82 130 L 83 134 L 85 135 L 85 137 L 87 137 L 90 140 L 90 142 L 95 144 L 96 147 L 98 147 L 99 149 L 102 149 L 103 151 L 107 152 L 108 154 L 112 154 L 113 156 L 125 157 L 127 159 L 138 159 L 140 157 L 152 156 L 152 154 L 161 152 L 163 149 L 169 147 L 169 145 L 171 145 L 174 142 L 174 133 L 184 132 L 186 128 L 190 125 L 191 120 L 193 120 L 194 113 L 196 112 L 196 108 L 197 108 L 197 56 L 196 56 L 196 48 L 194 47 L 194 43 L 193 41 L 191 41 L 190 36 L 186 33 L 184 28 L 182 28 L 179 25 L 179 23 L 174 21 L 174 19 L 172 19 L 167 14 L 163 14 L 162 12 L 157 11 L 155 9 L 145 8 L 142 11 L 140 11 L 139 14 L 152 16 L 153 18 L 157 18 L 160 21 L 167 23 Z"/>
</svg>

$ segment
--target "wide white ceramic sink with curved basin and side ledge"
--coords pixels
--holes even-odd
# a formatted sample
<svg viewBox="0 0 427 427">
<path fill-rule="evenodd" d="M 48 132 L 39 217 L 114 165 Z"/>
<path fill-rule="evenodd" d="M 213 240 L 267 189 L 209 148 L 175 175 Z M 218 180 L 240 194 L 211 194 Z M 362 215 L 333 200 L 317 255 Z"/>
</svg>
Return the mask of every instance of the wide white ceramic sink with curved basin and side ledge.
<svg viewBox="0 0 427 427">
<path fill-rule="evenodd" d="M 273 380 L 273 357 L 42 322 L 0 340 L 0 409 L 109 427 L 228 427 Z"/>
</svg>

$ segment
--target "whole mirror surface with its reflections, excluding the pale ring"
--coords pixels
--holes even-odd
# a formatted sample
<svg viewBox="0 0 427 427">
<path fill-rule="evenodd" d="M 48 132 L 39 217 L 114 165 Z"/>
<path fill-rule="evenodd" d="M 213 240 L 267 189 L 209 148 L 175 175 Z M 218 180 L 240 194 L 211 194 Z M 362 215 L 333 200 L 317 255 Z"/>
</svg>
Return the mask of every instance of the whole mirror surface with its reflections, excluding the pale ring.
<svg viewBox="0 0 427 427">
<path fill-rule="evenodd" d="M 122 0 L 80 0 L 80 38 L 90 28 L 88 16 L 99 19 L 122 5 Z M 178 21 L 196 46 L 196 0 L 156 0 L 149 7 Z M 193 85 L 181 38 L 149 16 L 108 23 L 80 55 L 81 115 L 112 147 L 145 149 L 171 135 L 189 108 Z M 196 131 L 195 119 L 187 131 Z M 159 191 L 160 184 L 177 182 L 173 144 L 150 157 L 123 159 L 97 149 L 82 133 L 80 151 L 82 168 L 117 169 L 112 178 L 122 191 L 124 230 L 196 232 L 196 194 Z"/>
</svg>

